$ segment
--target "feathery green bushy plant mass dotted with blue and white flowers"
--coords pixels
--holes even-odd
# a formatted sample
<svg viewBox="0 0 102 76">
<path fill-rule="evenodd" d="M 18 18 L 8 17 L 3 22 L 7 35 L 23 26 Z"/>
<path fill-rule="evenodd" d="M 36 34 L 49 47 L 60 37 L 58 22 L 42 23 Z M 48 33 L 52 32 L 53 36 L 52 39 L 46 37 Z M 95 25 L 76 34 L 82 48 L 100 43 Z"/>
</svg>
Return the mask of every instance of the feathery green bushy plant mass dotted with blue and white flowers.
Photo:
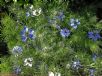
<svg viewBox="0 0 102 76">
<path fill-rule="evenodd" d="M 73 13 L 68 2 L 14 2 L 2 18 L 11 53 L 11 72 L 19 76 L 102 75 L 102 27 L 90 8 Z"/>
</svg>

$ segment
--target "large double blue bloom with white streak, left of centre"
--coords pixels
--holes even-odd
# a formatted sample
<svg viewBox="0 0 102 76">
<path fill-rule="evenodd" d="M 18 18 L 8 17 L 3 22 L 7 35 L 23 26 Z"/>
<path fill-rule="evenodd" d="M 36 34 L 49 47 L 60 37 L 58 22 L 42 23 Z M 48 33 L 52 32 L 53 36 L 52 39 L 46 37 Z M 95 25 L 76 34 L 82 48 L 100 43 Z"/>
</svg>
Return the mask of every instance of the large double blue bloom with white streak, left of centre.
<svg viewBox="0 0 102 76">
<path fill-rule="evenodd" d="M 35 39 L 35 32 L 32 29 L 29 29 L 27 26 L 24 26 L 23 30 L 21 30 L 21 39 L 23 42 L 26 42 L 27 39 Z"/>
</svg>

